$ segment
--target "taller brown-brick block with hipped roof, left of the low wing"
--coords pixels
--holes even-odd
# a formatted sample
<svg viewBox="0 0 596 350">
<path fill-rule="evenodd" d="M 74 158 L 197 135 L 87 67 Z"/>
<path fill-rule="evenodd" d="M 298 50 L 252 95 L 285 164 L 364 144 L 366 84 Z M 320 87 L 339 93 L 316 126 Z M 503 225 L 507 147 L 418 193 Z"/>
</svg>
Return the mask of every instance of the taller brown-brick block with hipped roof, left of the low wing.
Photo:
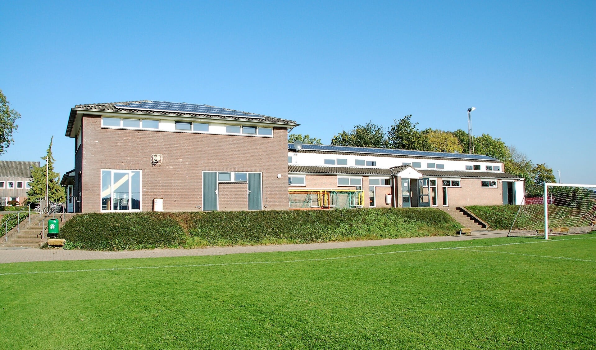
<svg viewBox="0 0 596 350">
<path fill-rule="evenodd" d="M 74 209 L 287 209 L 287 132 L 295 126 L 207 105 L 77 105 L 66 129 L 75 139 Z"/>
</svg>

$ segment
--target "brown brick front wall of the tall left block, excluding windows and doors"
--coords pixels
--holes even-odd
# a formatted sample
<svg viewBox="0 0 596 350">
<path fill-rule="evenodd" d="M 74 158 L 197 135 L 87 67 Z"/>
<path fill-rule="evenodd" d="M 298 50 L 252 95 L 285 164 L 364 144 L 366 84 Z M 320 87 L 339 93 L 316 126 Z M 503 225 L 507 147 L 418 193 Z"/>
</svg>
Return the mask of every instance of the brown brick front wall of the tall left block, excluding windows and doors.
<svg viewBox="0 0 596 350">
<path fill-rule="evenodd" d="M 263 205 L 268 210 L 288 207 L 284 127 L 275 127 L 274 137 L 101 129 L 100 115 L 84 115 L 82 127 L 79 152 L 84 212 L 101 209 L 101 169 L 142 170 L 144 211 L 152 209 L 153 198 L 163 198 L 165 211 L 197 210 L 203 201 L 201 171 L 263 173 Z M 160 166 L 151 165 L 153 154 L 163 155 Z M 78 162 L 76 158 L 76 172 Z M 228 210 L 247 210 L 246 202 L 226 203 Z"/>
</svg>

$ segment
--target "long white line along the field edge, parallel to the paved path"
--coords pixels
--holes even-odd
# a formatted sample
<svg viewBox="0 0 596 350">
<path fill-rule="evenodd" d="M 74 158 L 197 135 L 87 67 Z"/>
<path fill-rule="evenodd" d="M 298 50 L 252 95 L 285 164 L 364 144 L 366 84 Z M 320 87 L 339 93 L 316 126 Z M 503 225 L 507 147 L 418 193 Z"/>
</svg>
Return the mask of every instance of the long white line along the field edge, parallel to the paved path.
<svg viewBox="0 0 596 350">
<path fill-rule="evenodd" d="M 221 263 L 221 264 L 198 264 L 198 265 L 163 265 L 163 266 L 88 268 L 88 269 L 85 269 L 85 270 L 27 271 L 27 272 L 0 273 L 0 276 L 9 276 L 9 275 L 15 275 L 15 274 L 40 274 L 40 273 L 68 273 L 68 272 L 139 270 L 141 268 L 209 267 L 209 266 L 248 265 L 248 264 L 285 264 L 285 263 L 288 263 L 288 262 L 338 260 L 338 259 L 371 257 L 373 255 L 410 253 L 410 252 L 442 251 L 442 250 L 449 250 L 449 249 L 470 250 L 470 249 L 465 249 L 465 248 L 489 248 L 489 247 L 493 247 L 493 246 L 507 246 L 507 245 L 519 245 L 519 244 L 535 244 L 535 243 L 548 243 L 548 242 L 562 242 L 564 240 L 591 239 L 591 238 L 596 238 L 596 236 L 595 237 L 567 238 L 567 239 L 537 240 L 535 242 L 517 242 L 517 243 L 504 243 L 504 244 L 495 244 L 495 245 L 477 245 L 477 246 L 457 246 L 457 247 L 429 248 L 429 249 L 412 249 L 412 250 L 408 250 L 408 251 L 393 251 L 393 252 L 380 252 L 380 253 L 370 253 L 370 254 L 360 254 L 360 255 L 346 255 L 344 257 L 333 257 L 333 258 L 315 258 L 315 259 L 281 260 L 281 261 L 224 262 L 224 263 Z"/>
</svg>

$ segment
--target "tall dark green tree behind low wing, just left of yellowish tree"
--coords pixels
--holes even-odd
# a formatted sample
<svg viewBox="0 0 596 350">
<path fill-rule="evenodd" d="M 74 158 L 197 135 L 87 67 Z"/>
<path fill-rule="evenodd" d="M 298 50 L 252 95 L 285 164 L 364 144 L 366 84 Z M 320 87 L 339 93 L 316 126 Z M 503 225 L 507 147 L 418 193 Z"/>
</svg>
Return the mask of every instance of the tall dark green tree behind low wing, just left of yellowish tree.
<svg viewBox="0 0 596 350">
<path fill-rule="evenodd" d="M 387 146 L 397 149 L 415 149 L 417 151 L 430 151 L 428 137 L 418 130 L 418 123 L 412 123 L 412 115 L 406 115 L 387 131 Z"/>
</svg>

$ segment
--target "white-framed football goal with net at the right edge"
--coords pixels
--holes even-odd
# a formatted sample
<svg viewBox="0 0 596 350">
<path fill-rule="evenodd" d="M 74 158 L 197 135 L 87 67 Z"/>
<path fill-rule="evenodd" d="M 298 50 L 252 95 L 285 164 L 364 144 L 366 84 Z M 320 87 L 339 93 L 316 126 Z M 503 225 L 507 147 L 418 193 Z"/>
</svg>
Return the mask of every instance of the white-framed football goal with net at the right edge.
<svg viewBox="0 0 596 350">
<path fill-rule="evenodd" d="M 508 236 L 548 239 L 596 231 L 596 185 L 527 186 Z"/>
</svg>

